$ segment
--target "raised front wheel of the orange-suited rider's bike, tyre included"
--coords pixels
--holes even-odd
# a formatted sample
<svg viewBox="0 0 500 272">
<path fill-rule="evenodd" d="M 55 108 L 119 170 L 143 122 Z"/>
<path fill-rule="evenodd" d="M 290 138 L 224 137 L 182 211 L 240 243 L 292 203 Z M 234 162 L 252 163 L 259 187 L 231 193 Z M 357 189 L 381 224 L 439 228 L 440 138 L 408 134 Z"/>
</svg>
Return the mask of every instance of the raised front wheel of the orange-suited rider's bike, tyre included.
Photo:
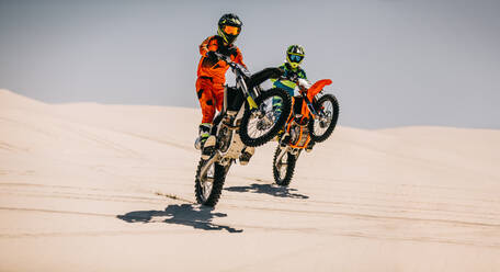
<svg viewBox="0 0 500 272">
<path fill-rule="evenodd" d="M 285 125 L 292 107 L 292 99 L 282 89 L 263 91 L 255 99 L 258 109 L 245 110 L 239 134 L 245 145 L 257 147 L 271 140 Z"/>
</svg>

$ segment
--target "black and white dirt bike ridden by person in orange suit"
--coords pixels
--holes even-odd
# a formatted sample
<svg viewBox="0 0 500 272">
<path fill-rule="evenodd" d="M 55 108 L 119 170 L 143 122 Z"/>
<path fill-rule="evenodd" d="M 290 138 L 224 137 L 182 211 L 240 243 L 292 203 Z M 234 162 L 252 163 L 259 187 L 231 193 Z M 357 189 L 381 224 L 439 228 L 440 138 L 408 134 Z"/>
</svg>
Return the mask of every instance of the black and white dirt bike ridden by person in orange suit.
<svg viewBox="0 0 500 272">
<path fill-rule="evenodd" d="M 227 56 L 218 53 L 216 56 L 229 65 L 236 76 L 236 86 L 226 86 L 223 110 L 213 122 L 212 135 L 216 136 L 216 145 L 208 150 L 208 159 L 202 156 L 196 170 L 196 201 L 207 206 L 217 204 L 226 174 L 243 150 L 274 138 L 292 107 L 292 99 L 286 91 L 279 88 L 262 90 L 260 87 L 270 78 L 282 77 L 281 69 L 266 68 L 250 75 L 243 66 Z M 273 99 L 282 102 L 279 115 L 274 112 L 277 109 L 273 109 Z"/>
</svg>

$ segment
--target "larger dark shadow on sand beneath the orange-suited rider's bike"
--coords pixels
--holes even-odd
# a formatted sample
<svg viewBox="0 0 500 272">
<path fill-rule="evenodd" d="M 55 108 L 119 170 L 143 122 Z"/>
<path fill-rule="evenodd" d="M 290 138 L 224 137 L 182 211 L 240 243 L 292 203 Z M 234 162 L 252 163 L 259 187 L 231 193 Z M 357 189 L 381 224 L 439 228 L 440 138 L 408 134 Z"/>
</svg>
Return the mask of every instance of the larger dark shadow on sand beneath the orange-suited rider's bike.
<svg viewBox="0 0 500 272">
<path fill-rule="evenodd" d="M 170 217 L 163 223 L 191 226 L 204 230 L 227 230 L 229 233 L 242 233 L 242 229 L 231 228 L 212 223 L 215 217 L 226 217 L 227 214 L 212 213 L 214 208 L 190 204 L 168 205 L 164 211 L 135 211 L 116 217 L 128 223 L 154 223 L 158 217 Z"/>
</svg>

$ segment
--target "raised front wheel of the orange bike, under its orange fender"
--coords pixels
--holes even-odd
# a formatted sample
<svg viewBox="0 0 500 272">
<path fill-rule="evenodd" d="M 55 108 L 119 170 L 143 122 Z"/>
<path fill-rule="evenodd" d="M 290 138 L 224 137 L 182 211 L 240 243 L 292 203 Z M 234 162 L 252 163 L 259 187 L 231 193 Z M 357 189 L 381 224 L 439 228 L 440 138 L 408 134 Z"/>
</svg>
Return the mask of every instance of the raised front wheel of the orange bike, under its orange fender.
<svg viewBox="0 0 500 272">
<path fill-rule="evenodd" d="M 315 107 L 318 114 L 309 122 L 308 127 L 310 138 L 316 143 L 321 143 L 330 137 L 336 128 L 339 118 L 339 102 L 332 94 L 325 94 L 315 103 Z"/>
</svg>

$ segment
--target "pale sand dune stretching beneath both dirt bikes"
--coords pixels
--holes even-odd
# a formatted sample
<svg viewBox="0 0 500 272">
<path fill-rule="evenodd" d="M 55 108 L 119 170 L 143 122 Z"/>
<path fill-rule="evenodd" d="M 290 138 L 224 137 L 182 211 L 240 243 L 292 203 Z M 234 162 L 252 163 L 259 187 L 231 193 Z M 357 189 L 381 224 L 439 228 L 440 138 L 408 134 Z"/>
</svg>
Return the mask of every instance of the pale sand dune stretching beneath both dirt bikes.
<svg viewBox="0 0 500 272">
<path fill-rule="evenodd" d="M 193 109 L 0 90 L 0 271 L 500 271 L 500 132 L 338 127 L 194 202 Z"/>
</svg>

